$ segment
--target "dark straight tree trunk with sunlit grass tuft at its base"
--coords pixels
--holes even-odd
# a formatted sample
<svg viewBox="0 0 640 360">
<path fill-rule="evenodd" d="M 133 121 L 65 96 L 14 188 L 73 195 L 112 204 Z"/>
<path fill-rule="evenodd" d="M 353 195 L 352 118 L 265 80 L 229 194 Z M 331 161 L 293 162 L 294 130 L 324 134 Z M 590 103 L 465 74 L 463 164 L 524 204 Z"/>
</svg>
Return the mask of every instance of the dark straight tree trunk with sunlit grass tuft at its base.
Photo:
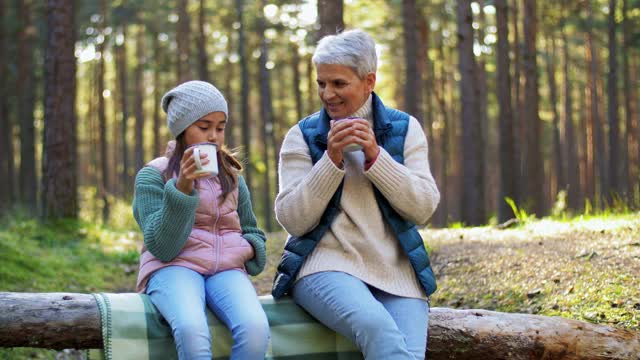
<svg viewBox="0 0 640 360">
<path fill-rule="evenodd" d="M 498 104 L 500 107 L 500 192 L 498 221 L 505 222 L 515 214 L 505 201 L 516 199 L 518 156 L 515 152 L 513 111 L 511 108 L 511 75 L 509 61 L 509 9 L 506 0 L 496 0 L 498 44 L 496 52 Z"/>
</svg>

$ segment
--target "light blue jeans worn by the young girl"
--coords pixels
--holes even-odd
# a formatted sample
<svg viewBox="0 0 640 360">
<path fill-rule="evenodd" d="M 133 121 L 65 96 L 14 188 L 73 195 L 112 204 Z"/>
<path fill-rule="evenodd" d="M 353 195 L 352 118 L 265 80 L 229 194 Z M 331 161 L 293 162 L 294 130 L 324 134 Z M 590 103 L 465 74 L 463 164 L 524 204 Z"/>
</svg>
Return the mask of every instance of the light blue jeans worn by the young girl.
<svg viewBox="0 0 640 360">
<path fill-rule="evenodd" d="M 180 359 L 211 360 L 205 306 L 231 330 L 231 359 L 264 359 L 269 323 L 245 273 L 228 270 L 203 276 L 169 266 L 151 276 L 147 294 L 169 322 Z"/>
</svg>

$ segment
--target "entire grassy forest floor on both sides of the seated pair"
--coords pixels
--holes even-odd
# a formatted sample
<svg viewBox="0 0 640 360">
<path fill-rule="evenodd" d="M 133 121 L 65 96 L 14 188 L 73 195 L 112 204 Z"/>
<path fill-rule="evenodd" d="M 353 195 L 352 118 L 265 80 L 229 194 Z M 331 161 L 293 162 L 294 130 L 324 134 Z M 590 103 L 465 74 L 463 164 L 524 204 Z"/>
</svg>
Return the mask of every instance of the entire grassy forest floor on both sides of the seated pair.
<svg viewBox="0 0 640 360">
<path fill-rule="evenodd" d="M 139 231 L 90 222 L 0 221 L 0 291 L 133 292 Z M 562 316 L 640 330 L 640 213 L 531 220 L 508 229 L 424 229 L 438 291 L 434 307 Z M 286 234 L 268 234 L 271 289 Z M 52 274 L 57 274 L 52 276 Z M 0 349 L 0 359 L 78 353 Z"/>
</svg>

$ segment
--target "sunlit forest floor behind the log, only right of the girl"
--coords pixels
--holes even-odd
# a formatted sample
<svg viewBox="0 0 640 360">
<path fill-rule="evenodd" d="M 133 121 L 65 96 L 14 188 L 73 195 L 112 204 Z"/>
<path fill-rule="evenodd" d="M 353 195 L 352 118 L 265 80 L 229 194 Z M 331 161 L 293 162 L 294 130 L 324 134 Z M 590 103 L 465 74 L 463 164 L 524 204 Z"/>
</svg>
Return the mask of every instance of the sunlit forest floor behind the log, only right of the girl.
<svg viewBox="0 0 640 360">
<path fill-rule="evenodd" d="M 640 330 L 640 214 L 534 220 L 509 229 L 425 229 L 434 307 L 530 313 Z M 285 234 L 269 236 L 271 289 Z"/>
</svg>

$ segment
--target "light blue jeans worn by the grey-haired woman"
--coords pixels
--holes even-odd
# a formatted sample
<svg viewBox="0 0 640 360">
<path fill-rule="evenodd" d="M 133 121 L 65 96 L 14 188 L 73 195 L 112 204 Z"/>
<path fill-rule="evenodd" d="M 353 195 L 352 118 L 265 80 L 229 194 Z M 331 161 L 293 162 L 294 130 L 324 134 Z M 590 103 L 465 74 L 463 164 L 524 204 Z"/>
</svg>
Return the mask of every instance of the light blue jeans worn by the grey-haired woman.
<svg viewBox="0 0 640 360">
<path fill-rule="evenodd" d="M 298 280 L 293 299 L 353 341 L 366 360 L 424 359 L 429 304 L 391 295 L 337 271 Z"/>
</svg>

